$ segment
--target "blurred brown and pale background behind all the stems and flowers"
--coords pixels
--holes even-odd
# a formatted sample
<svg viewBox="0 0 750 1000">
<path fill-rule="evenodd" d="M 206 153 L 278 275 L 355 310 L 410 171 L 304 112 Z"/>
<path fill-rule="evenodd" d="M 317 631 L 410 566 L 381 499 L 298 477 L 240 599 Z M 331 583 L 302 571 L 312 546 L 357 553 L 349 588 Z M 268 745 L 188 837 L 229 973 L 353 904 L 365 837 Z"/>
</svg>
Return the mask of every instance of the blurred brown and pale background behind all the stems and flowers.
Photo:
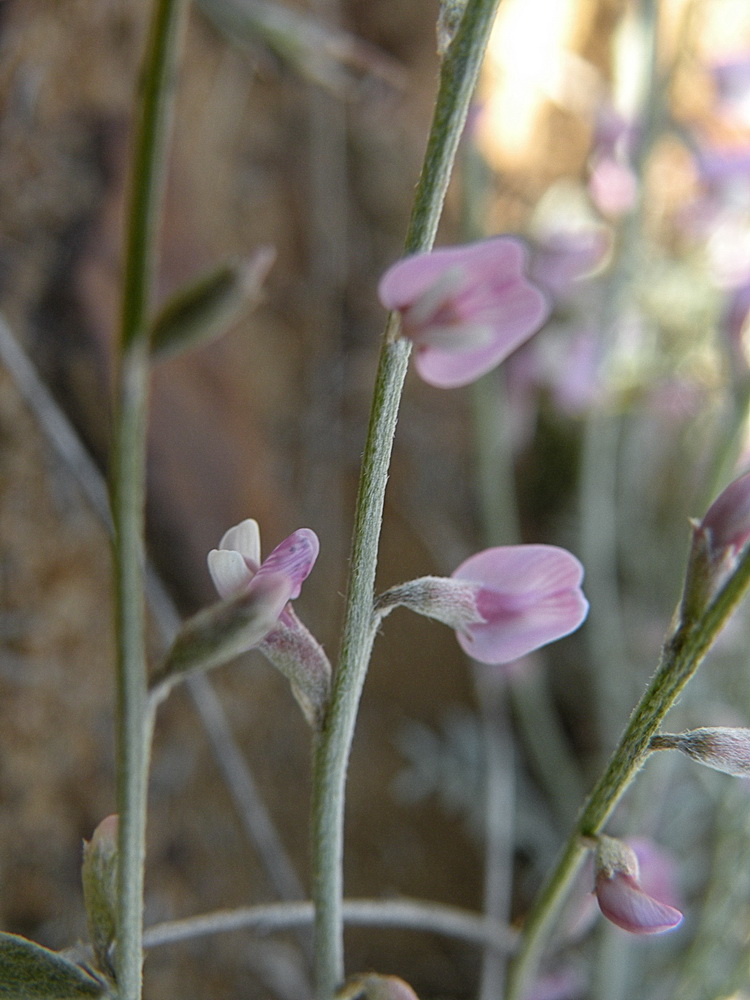
<svg viewBox="0 0 750 1000">
<path fill-rule="evenodd" d="M 3 337 L 103 472 L 148 13 L 144 0 L 0 0 Z M 255 517 L 265 551 L 313 528 L 321 556 L 297 608 L 334 658 L 384 321 L 376 285 L 419 174 L 437 16 L 428 0 L 200 0 L 179 80 L 159 300 L 228 257 L 272 246 L 276 260 L 257 308 L 155 371 L 151 553 L 189 614 L 213 597 L 206 553 L 232 524 Z M 749 208 L 744 0 L 502 0 L 438 242 L 522 235 L 552 317 L 475 390 L 408 379 L 379 582 L 448 573 L 491 543 L 563 544 L 586 566 L 591 613 L 502 673 L 472 669 L 442 626 L 388 619 L 350 771 L 348 895 L 481 908 L 493 787 L 509 832 L 490 868 L 507 917 L 528 908 L 653 672 L 688 518 L 747 461 Z M 108 541 L 6 349 L 0 927 L 61 948 L 85 937 L 81 840 L 114 809 Z M 672 731 L 748 724 L 745 618 Z M 306 725 L 257 655 L 211 682 L 306 886 Z M 750 996 L 747 794 L 659 756 L 610 832 L 669 853 L 685 925 L 633 944 L 569 915 L 548 997 Z M 277 889 L 180 689 L 156 734 L 147 923 Z M 580 900 L 583 912 L 585 889 Z M 466 944 L 347 940 L 352 971 L 401 975 L 425 1000 L 476 995 Z M 155 949 L 146 995 L 291 1000 L 301 968 L 294 936 L 237 933 Z"/>
</svg>

